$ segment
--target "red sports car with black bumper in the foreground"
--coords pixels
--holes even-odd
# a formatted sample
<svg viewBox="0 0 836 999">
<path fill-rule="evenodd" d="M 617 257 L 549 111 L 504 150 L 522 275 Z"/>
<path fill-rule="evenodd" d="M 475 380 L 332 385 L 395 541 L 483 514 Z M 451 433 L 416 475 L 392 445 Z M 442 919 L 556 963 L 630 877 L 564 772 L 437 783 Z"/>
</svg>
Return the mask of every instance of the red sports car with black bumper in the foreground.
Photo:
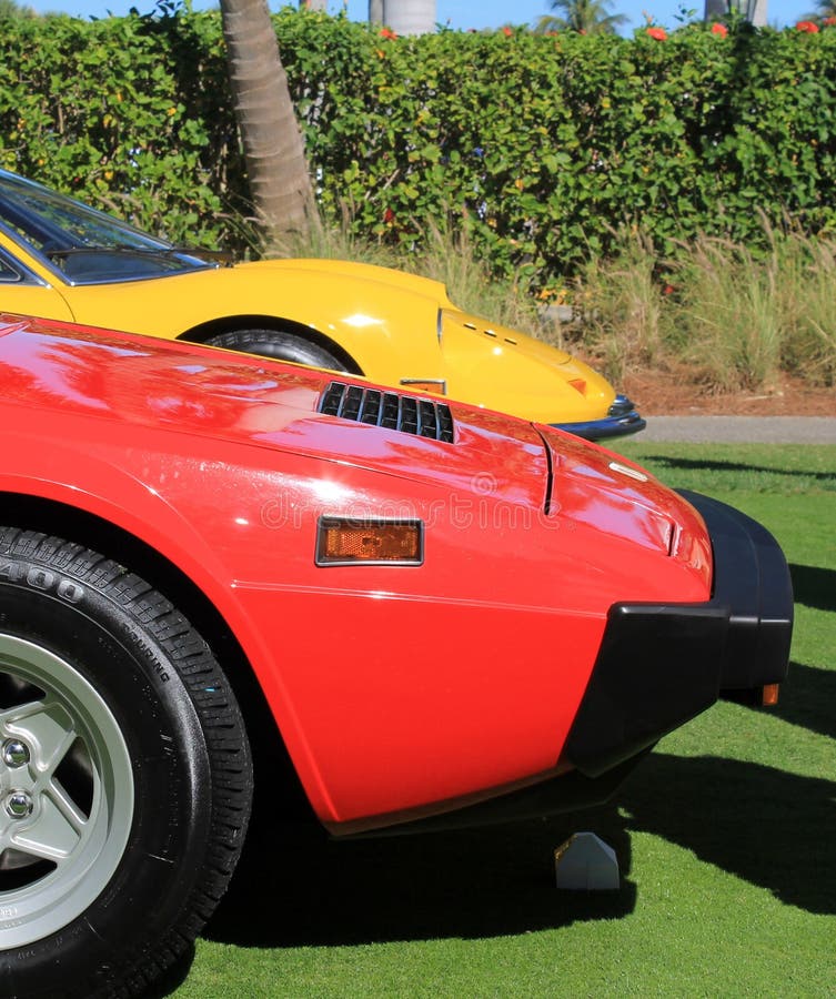
<svg viewBox="0 0 836 999">
<path fill-rule="evenodd" d="M 774 539 L 545 426 L 4 316 L 0 443 L 7 996 L 139 993 L 183 951 L 253 736 L 336 836 L 479 821 L 602 800 L 786 673 Z"/>
</svg>

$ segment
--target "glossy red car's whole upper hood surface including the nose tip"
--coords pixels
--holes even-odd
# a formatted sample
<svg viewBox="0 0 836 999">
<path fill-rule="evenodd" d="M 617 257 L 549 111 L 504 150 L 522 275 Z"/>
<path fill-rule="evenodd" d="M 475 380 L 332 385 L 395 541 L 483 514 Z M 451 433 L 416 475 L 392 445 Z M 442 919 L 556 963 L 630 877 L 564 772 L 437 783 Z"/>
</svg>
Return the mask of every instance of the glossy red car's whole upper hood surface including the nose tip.
<svg viewBox="0 0 836 999">
<path fill-rule="evenodd" d="M 328 416 L 319 406 L 333 380 L 212 347 L 0 317 L 0 391 L 21 404 L 289 451 L 502 500 L 708 572 L 698 515 L 604 448 L 455 403 L 453 443 Z"/>
</svg>

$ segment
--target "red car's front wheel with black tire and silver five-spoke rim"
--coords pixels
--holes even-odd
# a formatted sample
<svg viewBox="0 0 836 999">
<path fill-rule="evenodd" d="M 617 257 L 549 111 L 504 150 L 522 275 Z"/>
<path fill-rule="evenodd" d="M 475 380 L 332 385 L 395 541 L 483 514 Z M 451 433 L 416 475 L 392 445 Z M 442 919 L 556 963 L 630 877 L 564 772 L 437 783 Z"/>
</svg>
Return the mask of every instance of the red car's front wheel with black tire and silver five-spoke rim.
<svg viewBox="0 0 836 999">
<path fill-rule="evenodd" d="M 147 991 L 223 895 L 251 799 L 189 622 L 117 563 L 0 527 L 0 995 Z"/>
</svg>

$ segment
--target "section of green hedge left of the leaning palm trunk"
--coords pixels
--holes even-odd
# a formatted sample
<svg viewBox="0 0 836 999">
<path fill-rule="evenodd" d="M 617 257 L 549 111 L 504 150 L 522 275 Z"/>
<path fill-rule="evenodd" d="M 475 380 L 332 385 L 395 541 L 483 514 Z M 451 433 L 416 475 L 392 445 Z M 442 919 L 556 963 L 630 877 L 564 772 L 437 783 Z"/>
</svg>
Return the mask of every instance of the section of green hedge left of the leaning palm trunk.
<svg viewBox="0 0 836 999">
<path fill-rule="evenodd" d="M 245 180 L 215 21 L 0 21 L 0 164 L 174 240 L 219 240 Z"/>
</svg>

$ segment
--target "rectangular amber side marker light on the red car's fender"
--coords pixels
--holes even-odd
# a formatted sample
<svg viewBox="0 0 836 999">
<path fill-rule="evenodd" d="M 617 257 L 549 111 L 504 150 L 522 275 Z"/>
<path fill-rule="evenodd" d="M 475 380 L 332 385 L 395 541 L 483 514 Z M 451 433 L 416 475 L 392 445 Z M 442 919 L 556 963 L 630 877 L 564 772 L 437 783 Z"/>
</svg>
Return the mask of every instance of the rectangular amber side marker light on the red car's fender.
<svg viewBox="0 0 836 999">
<path fill-rule="evenodd" d="M 320 517 L 316 565 L 422 565 L 421 521 L 357 521 Z"/>
</svg>

